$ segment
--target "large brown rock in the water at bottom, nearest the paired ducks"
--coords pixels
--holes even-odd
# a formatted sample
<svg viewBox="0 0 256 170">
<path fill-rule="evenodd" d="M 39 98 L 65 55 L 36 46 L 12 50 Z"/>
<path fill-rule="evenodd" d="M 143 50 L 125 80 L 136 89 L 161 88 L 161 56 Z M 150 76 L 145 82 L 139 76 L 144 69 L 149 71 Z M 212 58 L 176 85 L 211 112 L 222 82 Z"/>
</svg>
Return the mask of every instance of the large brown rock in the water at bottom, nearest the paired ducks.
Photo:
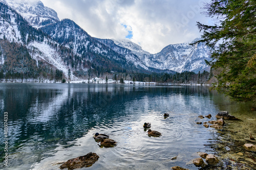
<svg viewBox="0 0 256 170">
<path fill-rule="evenodd" d="M 96 153 L 90 152 L 87 155 L 69 159 L 67 162 L 63 163 L 59 168 L 68 168 L 70 170 L 75 168 L 89 167 L 92 166 L 98 159 L 99 156 Z"/>
</svg>

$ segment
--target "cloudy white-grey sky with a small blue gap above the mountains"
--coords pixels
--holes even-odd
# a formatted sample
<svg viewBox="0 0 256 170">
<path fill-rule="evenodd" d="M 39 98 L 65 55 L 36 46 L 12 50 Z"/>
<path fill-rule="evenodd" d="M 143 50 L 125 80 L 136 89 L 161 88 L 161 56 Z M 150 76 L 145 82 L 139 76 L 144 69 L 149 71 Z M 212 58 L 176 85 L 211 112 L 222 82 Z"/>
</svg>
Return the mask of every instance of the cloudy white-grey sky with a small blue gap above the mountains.
<svg viewBox="0 0 256 170">
<path fill-rule="evenodd" d="M 200 37 L 196 21 L 209 24 L 201 14 L 203 0 L 40 0 L 59 19 L 69 18 L 91 36 L 125 39 L 143 50 L 158 53 L 168 44 Z"/>
</svg>

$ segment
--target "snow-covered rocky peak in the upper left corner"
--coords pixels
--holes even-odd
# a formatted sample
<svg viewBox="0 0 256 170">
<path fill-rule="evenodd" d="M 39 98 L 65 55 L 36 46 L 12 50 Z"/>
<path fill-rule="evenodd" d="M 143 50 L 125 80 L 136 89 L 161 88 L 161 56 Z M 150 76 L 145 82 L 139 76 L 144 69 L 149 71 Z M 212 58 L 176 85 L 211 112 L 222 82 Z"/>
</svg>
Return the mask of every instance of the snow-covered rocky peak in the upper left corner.
<svg viewBox="0 0 256 170">
<path fill-rule="evenodd" d="M 41 1 L 0 0 L 0 2 L 18 12 L 35 28 L 59 21 L 57 13 L 53 9 L 45 7 Z"/>
</svg>

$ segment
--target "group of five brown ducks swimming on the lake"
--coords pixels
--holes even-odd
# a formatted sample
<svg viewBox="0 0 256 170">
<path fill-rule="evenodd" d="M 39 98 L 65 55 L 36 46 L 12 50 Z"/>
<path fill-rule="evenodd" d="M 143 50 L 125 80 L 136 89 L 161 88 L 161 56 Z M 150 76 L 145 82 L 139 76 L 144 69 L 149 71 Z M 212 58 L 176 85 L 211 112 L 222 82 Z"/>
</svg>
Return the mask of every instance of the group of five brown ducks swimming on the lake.
<svg viewBox="0 0 256 170">
<path fill-rule="evenodd" d="M 168 113 L 164 113 L 164 118 L 166 118 L 168 116 L 169 116 Z M 149 129 L 149 128 L 151 128 L 151 123 L 144 123 L 143 128 L 144 128 L 145 131 L 146 131 L 146 129 L 148 129 L 147 134 L 150 137 L 151 136 L 153 136 L 153 137 L 161 136 L 160 132 L 153 131 L 153 130 Z M 98 142 L 98 143 L 100 142 L 100 145 L 99 145 L 100 148 L 102 148 L 102 147 L 105 147 L 105 148 L 115 147 L 115 145 L 117 143 L 115 140 L 110 139 L 109 135 L 106 135 L 106 134 L 95 133 L 93 138 L 95 139 L 96 142 Z"/>
</svg>

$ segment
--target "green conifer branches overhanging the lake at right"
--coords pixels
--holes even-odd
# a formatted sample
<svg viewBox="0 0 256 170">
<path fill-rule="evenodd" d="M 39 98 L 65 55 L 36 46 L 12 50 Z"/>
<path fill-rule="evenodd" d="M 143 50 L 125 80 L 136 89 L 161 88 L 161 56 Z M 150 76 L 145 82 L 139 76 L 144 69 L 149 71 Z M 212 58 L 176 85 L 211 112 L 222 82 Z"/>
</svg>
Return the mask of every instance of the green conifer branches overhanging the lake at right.
<svg viewBox="0 0 256 170">
<path fill-rule="evenodd" d="M 213 69 L 218 69 L 214 88 L 235 101 L 256 100 L 256 1 L 211 0 L 206 15 L 218 23 L 198 22 L 202 40 L 211 48 Z"/>
</svg>

